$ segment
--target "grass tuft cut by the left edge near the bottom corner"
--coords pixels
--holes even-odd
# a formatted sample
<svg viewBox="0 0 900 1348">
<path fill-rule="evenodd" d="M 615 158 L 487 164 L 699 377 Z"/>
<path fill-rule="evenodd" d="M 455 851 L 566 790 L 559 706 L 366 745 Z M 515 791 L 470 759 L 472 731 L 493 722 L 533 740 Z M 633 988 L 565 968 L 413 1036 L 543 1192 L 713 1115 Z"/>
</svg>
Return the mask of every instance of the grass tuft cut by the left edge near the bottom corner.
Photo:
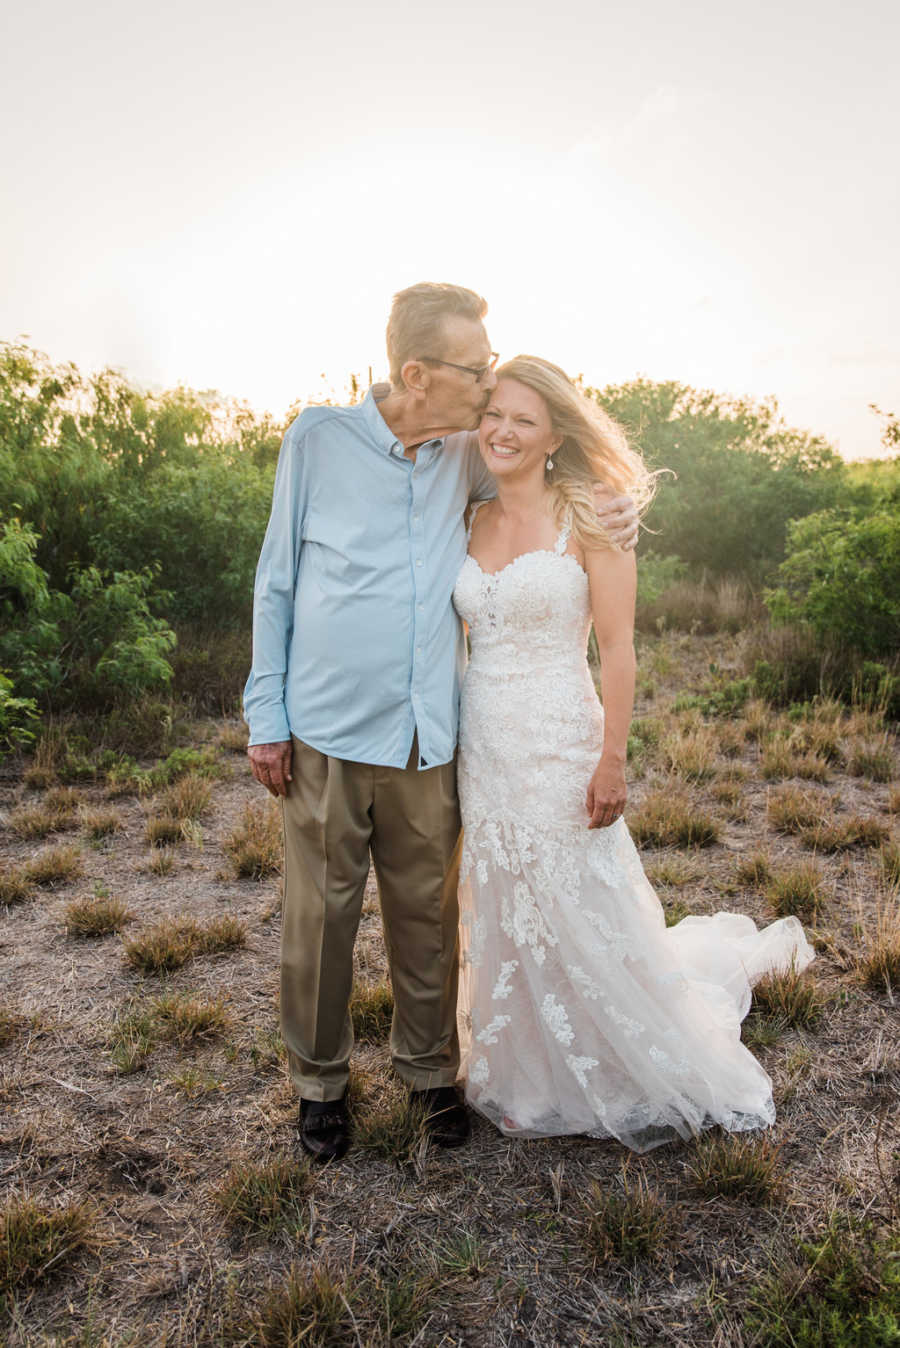
<svg viewBox="0 0 900 1348">
<path fill-rule="evenodd" d="M 96 1216 L 88 1202 L 50 1208 L 13 1194 L 0 1211 L 0 1295 L 40 1282 L 66 1260 L 96 1244 Z"/>
</svg>

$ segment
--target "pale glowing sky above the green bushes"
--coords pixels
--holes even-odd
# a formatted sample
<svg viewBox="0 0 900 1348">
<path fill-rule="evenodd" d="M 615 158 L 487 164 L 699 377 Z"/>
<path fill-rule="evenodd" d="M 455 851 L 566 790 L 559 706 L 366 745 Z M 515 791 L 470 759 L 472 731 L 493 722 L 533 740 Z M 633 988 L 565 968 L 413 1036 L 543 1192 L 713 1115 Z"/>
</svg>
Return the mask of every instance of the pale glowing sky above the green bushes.
<svg viewBox="0 0 900 1348">
<path fill-rule="evenodd" d="M 383 375 L 393 291 L 451 280 L 501 356 L 775 395 L 877 454 L 899 16 L 30 0 L 0 43 L 0 337 L 280 415 Z"/>
</svg>

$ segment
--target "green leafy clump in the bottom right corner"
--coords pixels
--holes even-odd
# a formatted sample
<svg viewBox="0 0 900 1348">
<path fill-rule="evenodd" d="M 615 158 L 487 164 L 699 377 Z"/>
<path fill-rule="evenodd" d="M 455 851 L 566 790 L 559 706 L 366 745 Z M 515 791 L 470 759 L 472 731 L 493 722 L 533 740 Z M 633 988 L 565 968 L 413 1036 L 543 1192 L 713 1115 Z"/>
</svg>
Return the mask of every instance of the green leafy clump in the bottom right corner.
<svg viewBox="0 0 900 1348">
<path fill-rule="evenodd" d="M 834 1217 L 815 1242 L 790 1246 L 752 1295 L 754 1348 L 889 1348 L 900 1341 L 900 1232 Z"/>
</svg>

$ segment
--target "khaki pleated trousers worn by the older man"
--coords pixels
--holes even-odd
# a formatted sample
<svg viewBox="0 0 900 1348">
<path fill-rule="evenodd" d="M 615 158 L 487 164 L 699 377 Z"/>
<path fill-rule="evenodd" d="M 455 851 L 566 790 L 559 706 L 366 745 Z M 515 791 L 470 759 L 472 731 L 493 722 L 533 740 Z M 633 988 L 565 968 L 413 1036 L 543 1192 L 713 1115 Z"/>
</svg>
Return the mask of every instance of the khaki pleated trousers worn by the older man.
<svg viewBox="0 0 900 1348">
<path fill-rule="evenodd" d="M 412 1089 L 451 1085 L 457 1039 L 459 803 L 455 763 L 373 767 L 294 739 L 283 801 L 282 1037 L 304 1100 L 344 1095 L 348 1003 L 369 851 L 393 987 L 391 1058 Z"/>
</svg>

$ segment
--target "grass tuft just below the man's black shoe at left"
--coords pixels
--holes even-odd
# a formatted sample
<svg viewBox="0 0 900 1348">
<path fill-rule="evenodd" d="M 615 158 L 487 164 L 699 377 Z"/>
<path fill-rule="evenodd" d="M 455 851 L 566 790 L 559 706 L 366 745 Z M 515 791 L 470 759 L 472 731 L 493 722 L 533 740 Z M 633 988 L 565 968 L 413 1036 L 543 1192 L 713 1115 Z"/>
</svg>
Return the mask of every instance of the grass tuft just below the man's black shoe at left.
<svg viewBox="0 0 900 1348">
<path fill-rule="evenodd" d="M 294 1157 L 232 1166 L 213 1194 L 226 1223 L 241 1235 L 300 1236 L 307 1225 L 306 1198 L 313 1189 L 310 1167 Z"/>
</svg>

